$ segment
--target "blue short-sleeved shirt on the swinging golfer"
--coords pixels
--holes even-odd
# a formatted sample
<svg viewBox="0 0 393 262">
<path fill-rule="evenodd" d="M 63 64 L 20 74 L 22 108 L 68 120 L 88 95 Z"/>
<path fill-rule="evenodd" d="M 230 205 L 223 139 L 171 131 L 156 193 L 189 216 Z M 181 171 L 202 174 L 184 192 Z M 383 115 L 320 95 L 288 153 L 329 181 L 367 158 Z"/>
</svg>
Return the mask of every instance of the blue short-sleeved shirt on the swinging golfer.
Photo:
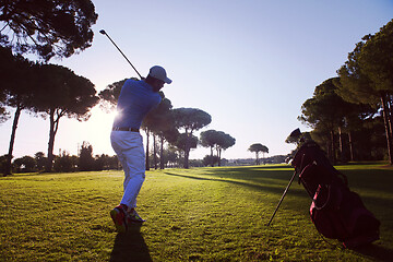
<svg viewBox="0 0 393 262">
<path fill-rule="evenodd" d="M 144 81 L 127 80 L 121 87 L 114 128 L 141 128 L 143 118 L 162 100 Z"/>
</svg>

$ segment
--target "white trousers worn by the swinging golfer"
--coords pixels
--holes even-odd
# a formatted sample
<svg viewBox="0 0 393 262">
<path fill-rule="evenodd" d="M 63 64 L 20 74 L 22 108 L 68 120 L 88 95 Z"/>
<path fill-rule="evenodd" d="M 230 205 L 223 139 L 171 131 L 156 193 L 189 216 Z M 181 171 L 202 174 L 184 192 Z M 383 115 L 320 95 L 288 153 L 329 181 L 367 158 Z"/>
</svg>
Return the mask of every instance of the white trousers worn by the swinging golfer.
<svg viewBox="0 0 393 262">
<path fill-rule="evenodd" d="M 112 131 L 110 142 L 124 170 L 123 196 L 120 204 L 136 207 L 136 196 L 145 180 L 145 153 L 138 132 Z"/>
</svg>

